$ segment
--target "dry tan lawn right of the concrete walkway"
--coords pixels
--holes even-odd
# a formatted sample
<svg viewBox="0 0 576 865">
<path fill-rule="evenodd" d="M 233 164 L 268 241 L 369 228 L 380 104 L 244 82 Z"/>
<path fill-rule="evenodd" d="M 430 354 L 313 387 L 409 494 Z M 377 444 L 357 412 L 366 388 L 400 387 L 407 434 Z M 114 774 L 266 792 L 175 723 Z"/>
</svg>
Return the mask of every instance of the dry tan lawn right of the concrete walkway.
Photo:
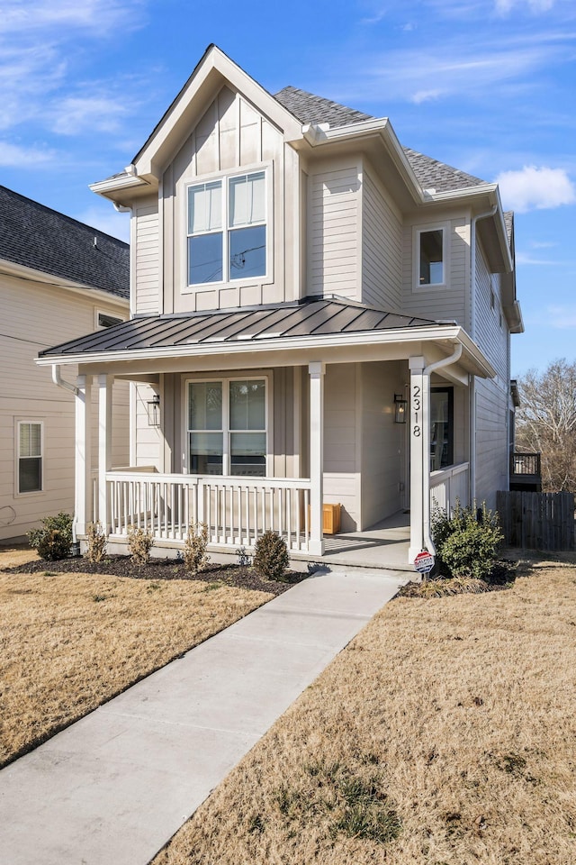
<svg viewBox="0 0 576 865">
<path fill-rule="evenodd" d="M 154 865 L 573 865 L 575 670 L 573 566 L 400 597 Z"/>
</svg>

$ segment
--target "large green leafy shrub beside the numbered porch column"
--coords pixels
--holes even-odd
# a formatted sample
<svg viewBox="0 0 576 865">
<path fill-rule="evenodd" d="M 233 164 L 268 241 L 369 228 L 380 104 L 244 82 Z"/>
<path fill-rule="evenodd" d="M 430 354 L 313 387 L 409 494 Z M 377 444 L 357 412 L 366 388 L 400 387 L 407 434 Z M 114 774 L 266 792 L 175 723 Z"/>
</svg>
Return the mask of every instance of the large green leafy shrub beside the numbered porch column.
<svg viewBox="0 0 576 865">
<path fill-rule="evenodd" d="M 454 514 L 441 508 L 432 514 L 432 537 L 440 572 L 447 577 L 490 579 L 504 537 L 496 512 L 482 502 L 477 510 L 456 502 Z"/>
</svg>

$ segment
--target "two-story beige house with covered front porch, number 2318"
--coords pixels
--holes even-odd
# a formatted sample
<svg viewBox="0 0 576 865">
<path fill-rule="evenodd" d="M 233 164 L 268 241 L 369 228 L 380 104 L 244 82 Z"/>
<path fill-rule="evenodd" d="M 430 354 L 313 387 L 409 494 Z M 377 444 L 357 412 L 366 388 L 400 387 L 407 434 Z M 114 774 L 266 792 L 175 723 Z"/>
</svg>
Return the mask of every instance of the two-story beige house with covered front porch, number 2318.
<svg viewBox="0 0 576 865">
<path fill-rule="evenodd" d="M 495 184 L 401 147 L 387 119 L 271 96 L 211 46 L 130 166 L 92 188 L 132 214 L 132 318 L 39 361 L 80 365 L 79 531 L 93 383 L 97 516 L 118 542 L 141 524 L 174 548 L 200 520 L 214 548 L 272 526 L 320 555 L 324 502 L 345 531 L 410 508 L 413 560 L 431 501 L 508 488 L 522 320 Z M 138 394 L 123 473 L 115 377 Z"/>
</svg>

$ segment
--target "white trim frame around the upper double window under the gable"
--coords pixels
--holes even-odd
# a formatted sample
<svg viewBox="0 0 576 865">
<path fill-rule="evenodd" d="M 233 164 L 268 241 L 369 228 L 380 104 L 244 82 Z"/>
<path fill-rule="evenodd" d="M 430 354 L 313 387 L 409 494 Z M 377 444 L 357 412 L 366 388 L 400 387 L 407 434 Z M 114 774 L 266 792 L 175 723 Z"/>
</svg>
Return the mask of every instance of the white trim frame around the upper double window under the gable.
<svg viewBox="0 0 576 865">
<path fill-rule="evenodd" d="M 226 276 L 228 278 L 222 278 L 218 282 L 199 282 L 193 283 L 190 285 L 188 283 L 188 238 L 191 236 L 188 233 L 188 190 L 192 187 L 200 186 L 202 183 L 211 183 L 214 180 L 220 180 L 222 183 L 222 270 L 228 269 L 228 232 L 229 232 L 229 224 L 228 224 L 228 216 L 229 216 L 229 180 L 233 178 L 241 178 L 245 175 L 249 174 L 257 174 L 258 171 L 264 171 L 265 174 L 265 185 L 266 185 L 266 220 L 264 224 L 266 225 L 266 273 L 262 274 L 259 277 L 238 277 L 234 279 L 230 279 L 228 272 L 226 272 Z M 270 283 L 273 281 L 273 242 L 274 242 L 274 225 L 273 225 L 273 217 L 274 217 L 274 196 L 273 196 L 273 187 L 274 187 L 274 174 L 273 174 L 273 164 L 272 162 L 258 162 L 254 165 L 247 166 L 238 166 L 238 168 L 234 168 L 222 174 L 221 172 L 215 172 L 211 174 L 202 174 L 197 177 L 191 179 L 189 182 L 184 184 L 184 195 L 183 197 L 183 210 L 182 214 L 182 224 L 184 227 L 184 261 L 183 261 L 183 273 L 182 273 L 182 293 L 183 294 L 193 294 L 196 291 L 210 291 L 214 288 L 221 287 L 236 287 L 242 284 L 244 281 L 247 285 L 250 286 L 261 286 L 266 283 Z M 262 224 L 262 223 L 257 223 Z M 210 232 L 206 232 L 210 233 Z"/>
</svg>

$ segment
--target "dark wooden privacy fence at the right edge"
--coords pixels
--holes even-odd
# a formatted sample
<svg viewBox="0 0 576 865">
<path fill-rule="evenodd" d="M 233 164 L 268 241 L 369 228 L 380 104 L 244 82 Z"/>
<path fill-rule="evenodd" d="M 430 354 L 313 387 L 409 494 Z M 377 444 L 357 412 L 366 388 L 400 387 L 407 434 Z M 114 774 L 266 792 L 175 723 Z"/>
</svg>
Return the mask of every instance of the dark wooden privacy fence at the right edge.
<svg viewBox="0 0 576 865">
<path fill-rule="evenodd" d="M 502 532 L 510 547 L 574 549 L 572 493 L 499 492 L 496 495 Z"/>
</svg>

